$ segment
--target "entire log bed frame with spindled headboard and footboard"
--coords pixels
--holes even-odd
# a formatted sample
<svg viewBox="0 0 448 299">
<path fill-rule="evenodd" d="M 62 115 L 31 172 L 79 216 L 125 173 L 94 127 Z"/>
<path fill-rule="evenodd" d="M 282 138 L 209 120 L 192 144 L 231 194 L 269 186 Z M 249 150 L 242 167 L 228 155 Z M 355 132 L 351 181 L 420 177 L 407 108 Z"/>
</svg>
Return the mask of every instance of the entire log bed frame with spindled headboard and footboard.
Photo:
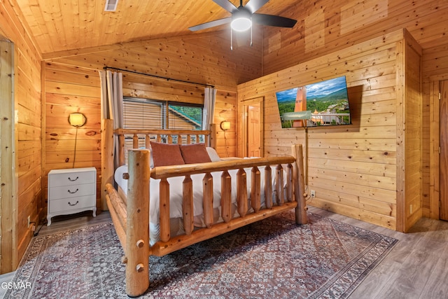
<svg viewBox="0 0 448 299">
<path fill-rule="evenodd" d="M 215 126 L 212 126 L 212 131 Z M 143 295 L 149 287 L 149 256 L 164 256 L 191 244 L 222 235 L 225 232 L 241 228 L 249 223 L 279 214 L 288 209 L 295 209 L 295 222 L 307 223 L 307 212 L 304 192 L 302 145 L 291 147 L 293 156 L 253 158 L 239 160 L 223 160 L 189 165 L 148 167 L 150 152 L 146 149 L 133 149 L 128 152 L 128 173 L 123 175 L 128 180 L 127 197 L 113 187 L 113 136 L 118 136 L 120 165 L 124 164 L 125 134 L 131 135 L 134 148 L 138 148 L 139 136 L 144 136 L 146 148 L 149 148 L 151 137 L 160 141 L 165 135 L 171 143 L 172 136 L 203 135 L 206 143 L 209 131 L 190 130 L 113 130 L 111 120 L 102 121 L 102 194 L 110 211 L 118 238 L 123 246 L 126 264 L 126 293 L 130 297 Z M 211 136 L 214 136 L 211 134 Z M 184 138 L 185 139 L 185 138 Z M 196 137 L 197 140 L 197 137 Z M 286 182 L 283 182 L 282 165 L 286 166 Z M 260 190 L 260 167 L 265 172 L 265 181 L 272 179 L 272 167 L 277 190 L 272 190 L 271 183 L 265 183 Z M 244 168 L 251 168 L 251 207 L 248 207 L 247 181 Z M 237 172 L 237 211 L 240 217 L 231 218 L 231 178 L 230 169 Z M 221 217 L 223 222 L 214 223 L 213 218 L 213 178 L 211 172 L 221 172 Z M 203 209 L 206 228 L 194 228 L 193 225 L 193 183 L 192 174 L 204 174 Z M 172 176 L 184 176 L 183 180 L 183 225 L 185 235 L 170 236 L 169 223 L 169 182 Z M 104 180 L 103 180 L 104 179 Z M 149 246 L 149 183 L 150 179 L 160 179 L 160 241 Z M 286 195 L 281 186 L 286 183 Z M 260 194 L 265 193 L 265 208 L 260 209 Z M 272 192 L 276 192 L 276 202 L 270 200 Z M 104 206 L 103 206 L 104 207 Z M 252 211 L 253 210 L 253 211 Z M 249 212 L 248 212 L 249 211 Z"/>
</svg>

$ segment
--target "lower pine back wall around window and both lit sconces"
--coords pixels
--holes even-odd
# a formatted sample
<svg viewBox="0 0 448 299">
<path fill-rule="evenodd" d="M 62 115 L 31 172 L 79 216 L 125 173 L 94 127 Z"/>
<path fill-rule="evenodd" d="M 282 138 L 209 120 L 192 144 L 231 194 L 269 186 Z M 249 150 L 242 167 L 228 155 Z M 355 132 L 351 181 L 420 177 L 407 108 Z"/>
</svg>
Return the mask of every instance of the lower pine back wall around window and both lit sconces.
<svg viewBox="0 0 448 299">
<path fill-rule="evenodd" d="M 95 69 L 47 62 L 43 65 L 43 95 L 45 102 L 45 139 L 43 140 L 43 199 L 48 194 L 48 172 L 51 169 L 73 167 L 76 128 L 68 123 L 73 112 L 84 113 L 87 123 L 78 129 L 74 167 L 97 168 L 97 207 L 101 186 L 100 82 Z M 235 87 L 236 88 L 236 87 Z M 130 97 L 163 99 L 193 104 L 204 103 L 204 87 L 147 76 L 123 74 L 123 94 Z M 236 92 L 218 90 L 215 123 L 228 120 L 233 125 L 227 139 L 235 139 Z M 235 155 L 235 141 L 225 140 L 218 129 L 218 154 Z"/>
</svg>

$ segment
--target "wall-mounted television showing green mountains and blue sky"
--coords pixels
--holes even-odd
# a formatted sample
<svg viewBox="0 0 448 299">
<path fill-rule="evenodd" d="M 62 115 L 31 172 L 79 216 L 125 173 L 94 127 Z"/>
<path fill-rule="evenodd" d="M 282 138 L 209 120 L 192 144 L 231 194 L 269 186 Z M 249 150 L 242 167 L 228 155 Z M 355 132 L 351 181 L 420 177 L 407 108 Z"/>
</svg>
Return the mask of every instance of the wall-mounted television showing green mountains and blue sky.
<svg viewBox="0 0 448 299">
<path fill-rule="evenodd" d="M 281 127 L 351 125 L 345 76 L 276 92 Z"/>
</svg>

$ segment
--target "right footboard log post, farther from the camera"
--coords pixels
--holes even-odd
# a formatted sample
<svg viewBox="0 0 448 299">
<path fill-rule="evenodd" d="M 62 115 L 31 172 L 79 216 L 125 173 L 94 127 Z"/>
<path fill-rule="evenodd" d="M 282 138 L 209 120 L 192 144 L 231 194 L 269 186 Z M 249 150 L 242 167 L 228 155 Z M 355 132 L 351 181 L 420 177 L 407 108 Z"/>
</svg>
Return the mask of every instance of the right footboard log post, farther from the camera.
<svg viewBox="0 0 448 299">
<path fill-rule="evenodd" d="M 303 151 L 302 144 L 295 144 L 291 146 L 294 163 L 294 197 L 297 201 L 297 207 L 295 208 L 295 223 L 307 224 L 307 193 L 305 193 L 304 183 L 304 167 L 303 167 Z"/>
</svg>

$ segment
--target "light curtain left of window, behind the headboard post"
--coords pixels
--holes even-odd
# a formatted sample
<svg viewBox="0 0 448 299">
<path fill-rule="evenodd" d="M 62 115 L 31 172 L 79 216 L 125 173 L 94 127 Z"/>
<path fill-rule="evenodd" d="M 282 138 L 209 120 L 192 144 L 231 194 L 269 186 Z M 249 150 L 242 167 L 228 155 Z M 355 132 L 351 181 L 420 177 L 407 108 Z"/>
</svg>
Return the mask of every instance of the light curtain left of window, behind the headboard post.
<svg viewBox="0 0 448 299">
<path fill-rule="evenodd" d="M 112 71 L 99 71 L 101 81 L 101 118 L 112 119 L 113 129 L 123 127 L 123 74 Z M 118 153 L 118 141 L 114 140 Z M 118 167 L 118 155 L 115 155 Z"/>
</svg>

